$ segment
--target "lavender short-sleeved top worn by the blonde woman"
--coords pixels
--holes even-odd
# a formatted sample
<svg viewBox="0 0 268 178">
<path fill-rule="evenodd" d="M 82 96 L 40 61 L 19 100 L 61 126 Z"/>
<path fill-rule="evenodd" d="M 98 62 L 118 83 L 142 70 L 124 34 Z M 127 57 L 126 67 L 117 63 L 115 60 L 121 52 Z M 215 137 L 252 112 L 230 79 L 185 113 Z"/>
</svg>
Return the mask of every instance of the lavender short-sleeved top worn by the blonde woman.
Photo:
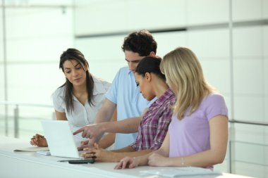
<svg viewBox="0 0 268 178">
<path fill-rule="evenodd" d="M 194 113 L 189 116 L 188 112 L 189 110 L 182 120 L 178 120 L 178 113 L 172 116 L 169 125 L 169 157 L 209 150 L 209 120 L 217 115 L 228 117 L 224 97 L 220 94 L 210 94 L 202 100 Z"/>
</svg>

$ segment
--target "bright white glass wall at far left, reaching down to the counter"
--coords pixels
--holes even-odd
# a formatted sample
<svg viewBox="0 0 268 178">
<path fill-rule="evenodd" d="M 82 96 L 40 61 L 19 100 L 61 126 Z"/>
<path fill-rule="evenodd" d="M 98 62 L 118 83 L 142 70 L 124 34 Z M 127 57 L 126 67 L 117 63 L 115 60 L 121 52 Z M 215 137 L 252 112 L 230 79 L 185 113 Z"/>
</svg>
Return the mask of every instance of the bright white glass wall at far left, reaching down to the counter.
<svg viewBox="0 0 268 178">
<path fill-rule="evenodd" d="M 5 1 L 0 28 L 0 101 L 4 101 L 3 27 L 6 29 L 7 101 L 19 106 L 20 137 L 41 132 L 39 120 L 51 119 L 54 108 L 51 94 L 65 81 L 59 70 L 62 51 L 73 47 L 73 1 Z M 0 134 L 6 134 L 6 110 L 0 105 Z M 8 106 L 8 136 L 14 134 L 14 109 Z"/>
</svg>

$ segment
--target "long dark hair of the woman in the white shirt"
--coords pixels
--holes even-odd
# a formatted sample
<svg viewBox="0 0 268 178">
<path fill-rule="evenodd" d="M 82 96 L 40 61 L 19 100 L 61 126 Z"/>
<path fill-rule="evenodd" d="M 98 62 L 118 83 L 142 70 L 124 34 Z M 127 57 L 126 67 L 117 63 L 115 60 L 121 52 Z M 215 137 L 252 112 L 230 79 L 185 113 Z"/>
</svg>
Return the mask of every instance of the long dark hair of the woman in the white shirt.
<svg viewBox="0 0 268 178">
<path fill-rule="evenodd" d="M 61 54 L 61 60 L 59 62 L 59 68 L 61 68 L 61 70 L 64 72 L 63 69 L 63 63 L 65 61 L 71 61 L 71 60 L 75 60 L 78 63 L 80 63 L 80 65 L 88 65 L 87 61 L 85 60 L 85 56 L 83 55 L 83 53 L 81 53 L 80 51 L 78 51 L 78 49 L 67 49 L 66 51 L 63 51 L 63 53 Z M 94 88 L 94 81 L 92 78 L 92 75 L 90 75 L 90 72 L 85 71 L 86 73 L 86 86 L 87 86 L 87 101 L 90 104 L 90 106 L 93 105 L 93 88 Z M 73 84 L 66 78 L 66 82 L 61 86 L 66 86 L 66 89 L 64 91 L 65 94 L 65 102 L 66 102 L 66 109 L 67 112 L 72 112 L 74 110 L 73 108 Z M 60 87 L 60 88 L 61 88 Z"/>
</svg>

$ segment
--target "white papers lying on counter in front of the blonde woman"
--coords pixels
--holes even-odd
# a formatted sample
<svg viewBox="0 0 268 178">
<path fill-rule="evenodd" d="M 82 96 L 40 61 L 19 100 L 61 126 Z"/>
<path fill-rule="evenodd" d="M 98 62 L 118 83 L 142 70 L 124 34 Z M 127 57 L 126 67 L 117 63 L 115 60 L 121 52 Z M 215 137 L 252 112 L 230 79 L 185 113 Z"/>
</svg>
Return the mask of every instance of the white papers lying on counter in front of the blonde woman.
<svg viewBox="0 0 268 178">
<path fill-rule="evenodd" d="M 142 174 L 153 174 L 164 177 L 182 177 L 186 175 L 203 175 L 203 174 L 221 174 L 220 172 L 214 172 L 209 169 L 200 167 L 169 167 L 159 170 L 142 170 Z"/>
</svg>

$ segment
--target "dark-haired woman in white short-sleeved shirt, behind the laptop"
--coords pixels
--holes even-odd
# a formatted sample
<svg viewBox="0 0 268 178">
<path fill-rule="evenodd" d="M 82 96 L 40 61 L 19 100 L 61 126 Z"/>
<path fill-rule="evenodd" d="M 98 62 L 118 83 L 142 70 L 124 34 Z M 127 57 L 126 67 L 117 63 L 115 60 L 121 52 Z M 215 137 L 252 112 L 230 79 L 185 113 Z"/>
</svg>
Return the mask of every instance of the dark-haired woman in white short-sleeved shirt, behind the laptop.
<svg viewBox="0 0 268 178">
<path fill-rule="evenodd" d="M 66 77 L 66 82 L 56 89 L 53 103 L 57 120 L 68 120 L 73 131 L 94 123 L 101 108 L 110 83 L 99 80 L 89 72 L 89 66 L 83 53 L 77 49 L 67 49 L 61 54 L 59 68 Z M 85 141 L 75 135 L 76 144 Z M 47 141 L 39 134 L 32 137 L 30 144 L 47 146 Z M 109 143 L 106 143 L 109 146 Z M 103 147 L 106 148 L 104 145 Z"/>
</svg>

